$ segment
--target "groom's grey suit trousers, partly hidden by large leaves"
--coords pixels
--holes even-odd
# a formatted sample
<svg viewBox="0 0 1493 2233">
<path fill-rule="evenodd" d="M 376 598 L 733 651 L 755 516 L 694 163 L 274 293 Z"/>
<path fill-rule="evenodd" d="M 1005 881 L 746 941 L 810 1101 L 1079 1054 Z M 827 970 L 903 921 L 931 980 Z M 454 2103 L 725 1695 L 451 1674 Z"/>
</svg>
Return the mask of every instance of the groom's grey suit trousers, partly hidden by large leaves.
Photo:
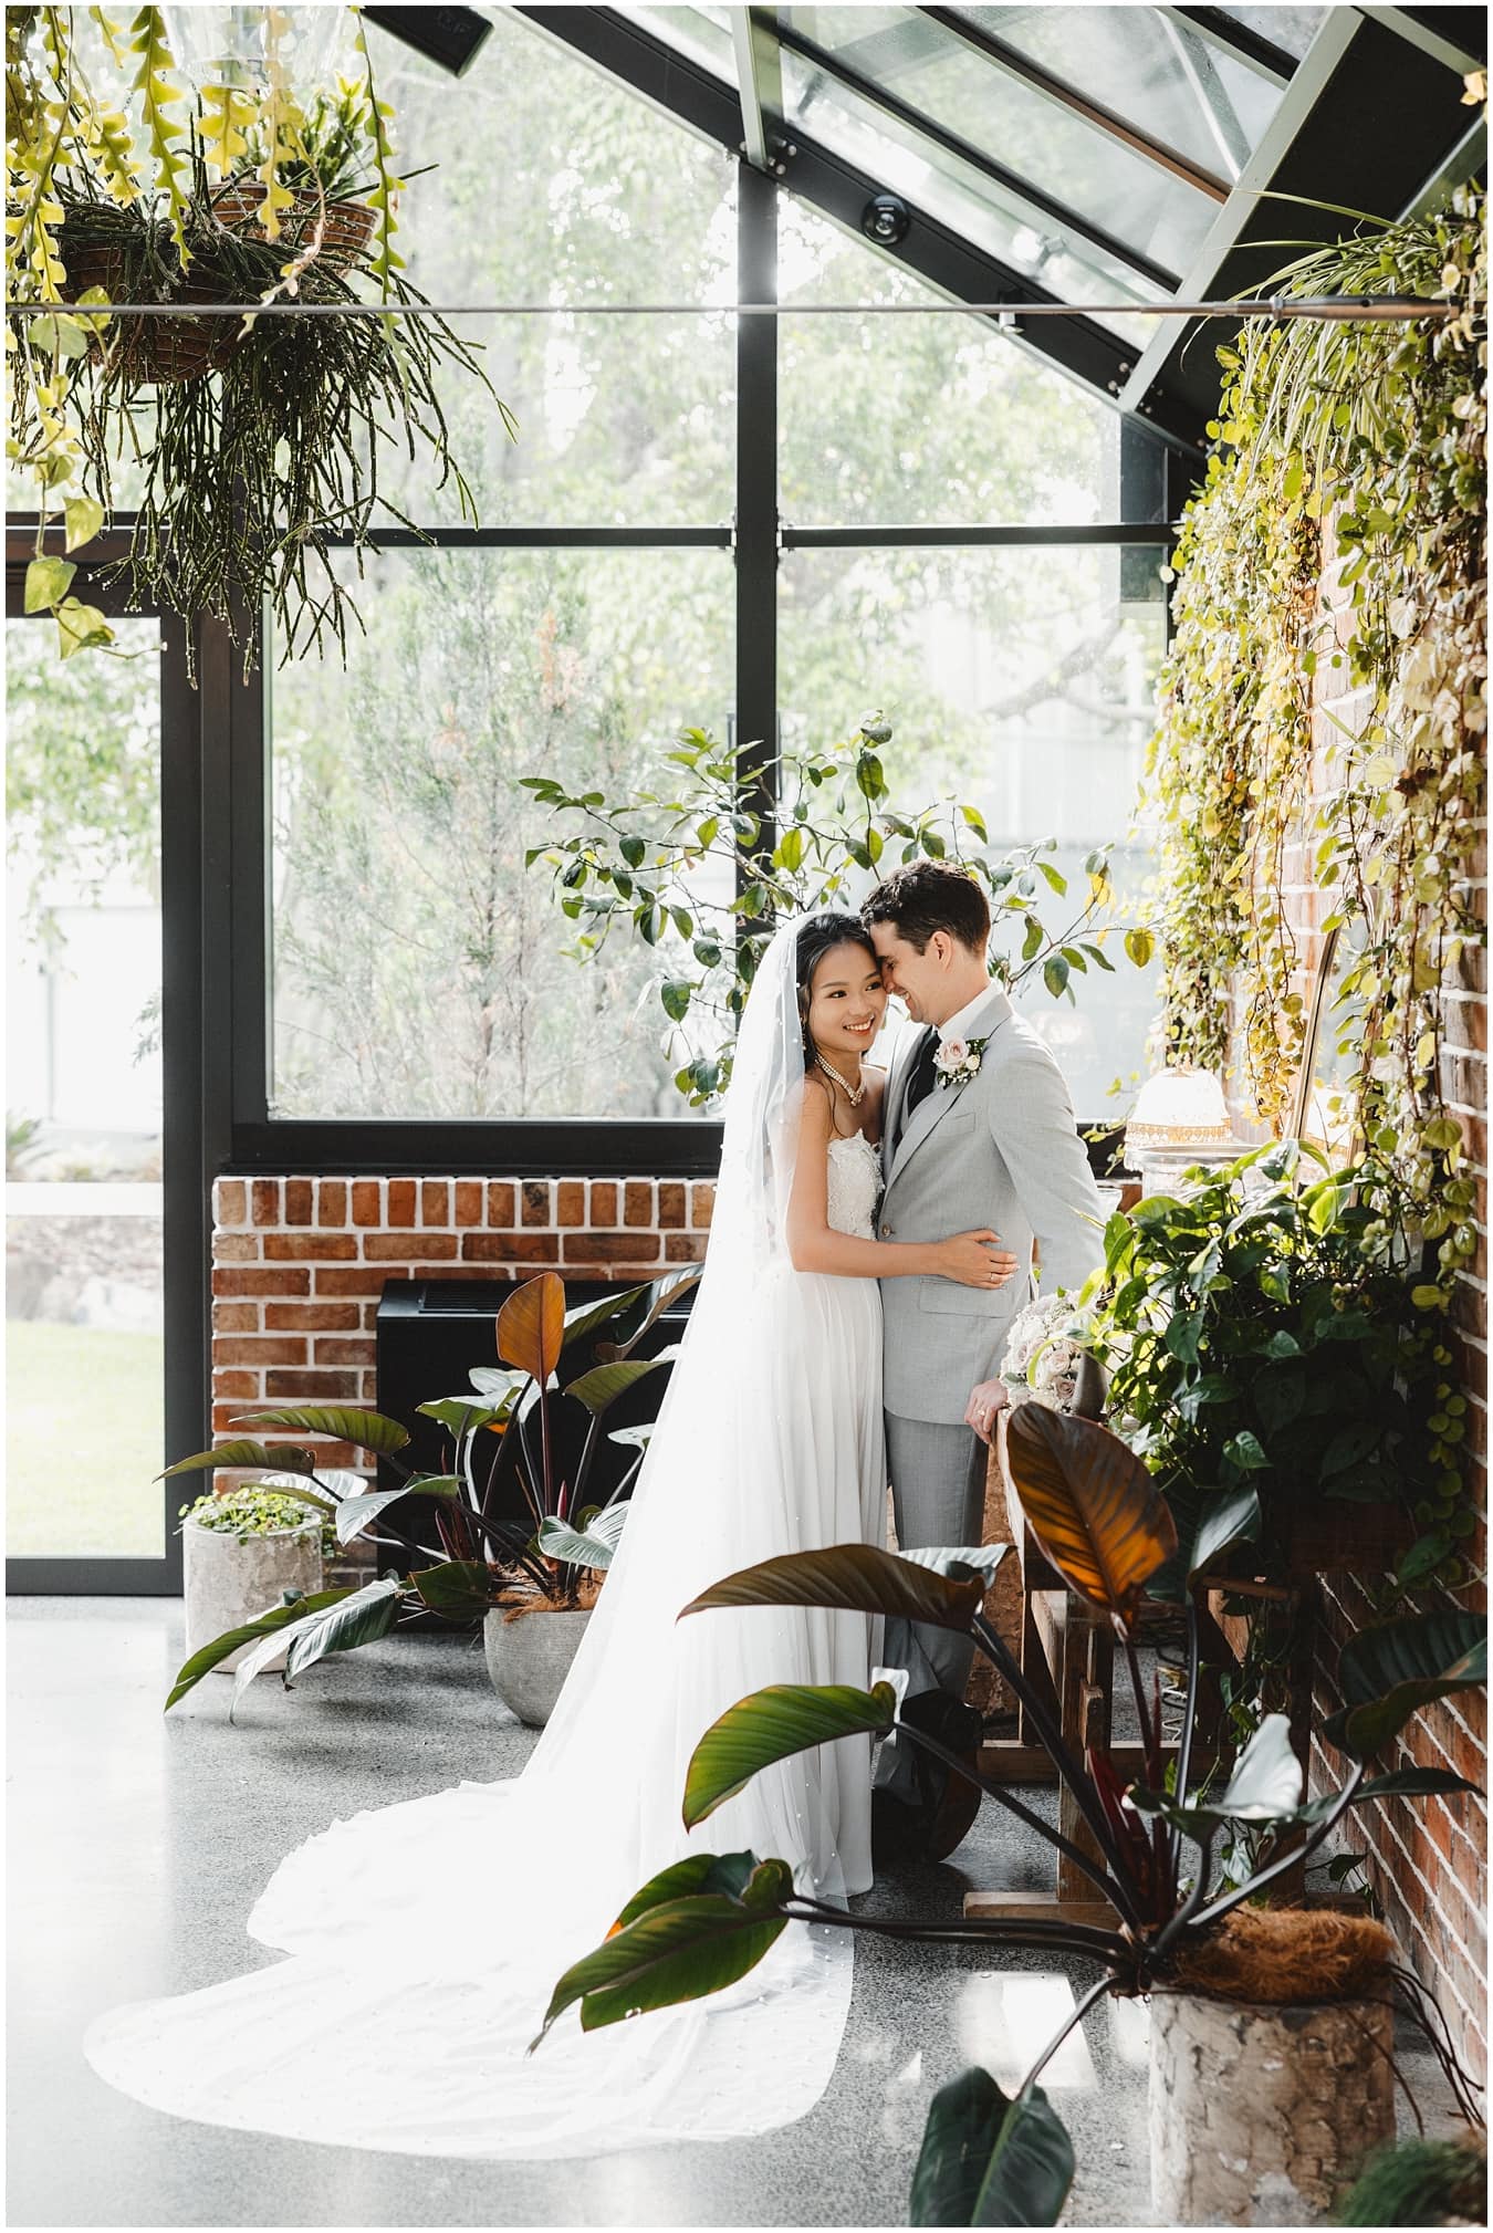
<svg viewBox="0 0 1493 2233">
<path fill-rule="evenodd" d="M 926 1550 L 940 1543 L 980 1543 L 984 1521 L 986 1447 L 971 1427 L 886 1413 L 886 1460 L 893 1476 L 897 1543 Z M 908 1697 L 951 1690 L 964 1697 L 975 1648 L 969 1637 L 922 1621 L 888 1619 L 882 1659 L 908 1670 Z M 908 1804 L 917 1795 L 906 1744 L 890 1735 L 882 1746 L 875 1789 Z"/>
</svg>

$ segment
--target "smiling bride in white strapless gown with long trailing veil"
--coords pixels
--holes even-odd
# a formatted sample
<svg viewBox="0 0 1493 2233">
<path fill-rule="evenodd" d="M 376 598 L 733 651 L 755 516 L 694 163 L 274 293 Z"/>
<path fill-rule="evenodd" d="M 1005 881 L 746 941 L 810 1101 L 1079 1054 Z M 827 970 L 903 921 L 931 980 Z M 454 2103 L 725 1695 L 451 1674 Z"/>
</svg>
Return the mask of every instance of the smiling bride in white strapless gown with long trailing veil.
<svg viewBox="0 0 1493 2233">
<path fill-rule="evenodd" d="M 993 1233 L 873 1239 L 886 1012 L 855 916 L 770 942 L 745 1005 L 705 1277 L 618 1556 L 522 1775 L 333 1822 L 270 1878 L 250 1936 L 288 1961 L 100 2016 L 85 2054 L 152 2108 L 353 2148 L 540 2159 L 732 2139 L 806 2115 L 850 2001 L 848 1932 L 794 1927 L 725 1994 L 527 2054 L 560 1972 L 692 1847 L 685 1764 L 770 1681 L 868 1679 L 864 1614 L 712 1612 L 759 1559 L 879 1543 L 879 1280 L 986 1286 Z M 801 1889 L 870 1885 L 868 1737 L 757 1775 L 714 1851 L 781 1856 Z"/>
</svg>

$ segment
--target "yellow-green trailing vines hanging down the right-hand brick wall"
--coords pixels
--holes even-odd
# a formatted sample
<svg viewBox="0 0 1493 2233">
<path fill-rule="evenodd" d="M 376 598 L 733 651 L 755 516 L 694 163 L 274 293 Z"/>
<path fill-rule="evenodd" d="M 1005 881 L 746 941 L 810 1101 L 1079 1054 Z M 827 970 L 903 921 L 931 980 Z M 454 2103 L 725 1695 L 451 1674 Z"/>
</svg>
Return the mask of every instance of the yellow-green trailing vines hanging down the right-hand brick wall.
<svg viewBox="0 0 1493 2233">
<path fill-rule="evenodd" d="M 1413 295 L 1453 317 L 1250 326 L 1176 549 L 1176 639 L 1149 779 L 1163 820 L 1172 1058 L 1227 1070 L 1285 1130 L 1303 1047 L 1290 884 L 1330 893 L 1352 1056 L 1332 1114 L 1439 1250 L 1446 1309 L 1475 1186 L 1444 1101 L 1442 989 L 1477 916 L 1486 802 L 1484 197 L 1312 250 L 1285 295 Z M 1319 596 L 1337 565 L 1337 612 Z M 1332 681 L 1328 677 L 1337 670 Z M 1341 699 L 1341 710 L 1339 710 Z M 1350 715 L 1346 719 L 1343 715 Z"/>
</svg>

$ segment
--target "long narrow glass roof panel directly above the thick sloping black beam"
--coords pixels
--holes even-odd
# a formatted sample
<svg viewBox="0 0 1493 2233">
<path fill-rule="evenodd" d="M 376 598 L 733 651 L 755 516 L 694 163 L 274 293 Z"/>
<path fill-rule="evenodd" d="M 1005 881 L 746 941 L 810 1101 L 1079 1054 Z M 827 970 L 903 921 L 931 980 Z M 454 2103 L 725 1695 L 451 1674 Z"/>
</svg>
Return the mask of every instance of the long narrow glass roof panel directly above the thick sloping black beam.
<svg viewBox="0 0 1493 2233">
<path fill-rule="evenodd" d="M 1140 272 L 1091 248 L 1089 241 L 1065 234 L 1053 219 L 873 107 L 830 71 L 788 47 L 781 58 L 788 127 L 817 138 L 890 192 L 906 197 L 915 210 L 926 210 L 1065 301 L 1165 301 L 1165 290 Z M 1100 315 L 1098 324 L 1138 346 L 1145 346 L 1152 330 L 1152 319 L 1125 310 Z"/>
</svg>

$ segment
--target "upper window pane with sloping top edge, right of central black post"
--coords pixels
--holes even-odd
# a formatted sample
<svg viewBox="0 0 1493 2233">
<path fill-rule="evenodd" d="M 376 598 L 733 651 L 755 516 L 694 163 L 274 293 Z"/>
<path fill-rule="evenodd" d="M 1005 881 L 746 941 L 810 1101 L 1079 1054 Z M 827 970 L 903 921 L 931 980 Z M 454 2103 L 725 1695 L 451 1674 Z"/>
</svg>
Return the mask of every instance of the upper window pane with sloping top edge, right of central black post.
<svg viewBox="0 0 1493 2233">
<path fill-rule="evenodd" d="M 792 317 L 935 301 L 913 272 L 786 201 L 781 509 L 797 527 L 1120 518 L 1120 418 L 973 317 Z"/>
</svg>

